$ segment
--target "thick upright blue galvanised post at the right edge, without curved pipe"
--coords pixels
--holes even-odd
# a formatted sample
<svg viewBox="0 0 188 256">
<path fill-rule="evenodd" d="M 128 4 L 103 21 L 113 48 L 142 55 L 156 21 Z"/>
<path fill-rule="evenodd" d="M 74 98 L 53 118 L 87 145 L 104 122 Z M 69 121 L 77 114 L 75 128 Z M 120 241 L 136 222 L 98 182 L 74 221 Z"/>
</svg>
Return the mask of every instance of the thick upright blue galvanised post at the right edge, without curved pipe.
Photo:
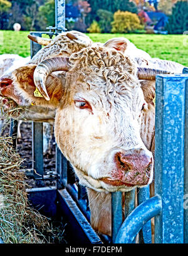
<svg viewBox="0 0 188 256">
<path fill-rule="evenodd" d="M 162 213 L 155 217 L 155 243 L 184 242 L 184 115 L 188 75 L 156 78 L 155 193 Z"/>
</svg>

